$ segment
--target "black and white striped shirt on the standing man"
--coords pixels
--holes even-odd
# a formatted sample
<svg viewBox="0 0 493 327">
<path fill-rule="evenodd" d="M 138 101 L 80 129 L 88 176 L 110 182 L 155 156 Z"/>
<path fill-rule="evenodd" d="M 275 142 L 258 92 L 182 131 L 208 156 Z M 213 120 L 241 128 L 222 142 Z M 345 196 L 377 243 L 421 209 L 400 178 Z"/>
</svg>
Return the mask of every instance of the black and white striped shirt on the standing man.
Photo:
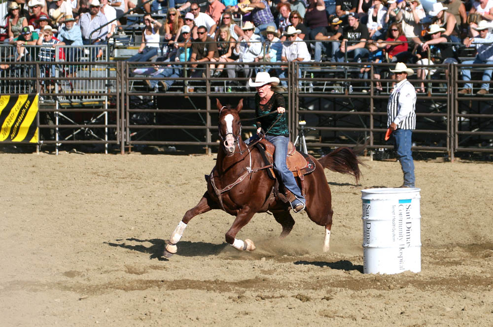
<svg viewBox="0 0 493 327">
<path fill-rule="evenodd" d="M 397 83 L 388 98 L 387 127 L 395 123 L 397 128 L 414 130 L 416 128 L 416 91 L 407 80 Z"/>
</svg>

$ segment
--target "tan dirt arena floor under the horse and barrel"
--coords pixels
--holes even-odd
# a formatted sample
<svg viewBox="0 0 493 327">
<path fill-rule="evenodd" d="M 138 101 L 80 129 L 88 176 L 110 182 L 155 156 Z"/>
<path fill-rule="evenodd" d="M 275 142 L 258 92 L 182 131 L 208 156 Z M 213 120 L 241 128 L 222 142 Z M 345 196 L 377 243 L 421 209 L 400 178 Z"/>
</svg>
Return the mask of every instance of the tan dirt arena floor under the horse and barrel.
<svg viewBox="0 0 493 327">
<path fill-rule="evenodd" d="M 361 185 L 326 170 L 331 252 L 306 214 L 283 240 L 258 214 L 194 218 L 211 156 L 0 154 L 1 326 L 493 326 L 493 164 L 417 161 L 422 272 L 363 274 L 361 190 L 402 183 L 370 162 Z"/>
</svg>

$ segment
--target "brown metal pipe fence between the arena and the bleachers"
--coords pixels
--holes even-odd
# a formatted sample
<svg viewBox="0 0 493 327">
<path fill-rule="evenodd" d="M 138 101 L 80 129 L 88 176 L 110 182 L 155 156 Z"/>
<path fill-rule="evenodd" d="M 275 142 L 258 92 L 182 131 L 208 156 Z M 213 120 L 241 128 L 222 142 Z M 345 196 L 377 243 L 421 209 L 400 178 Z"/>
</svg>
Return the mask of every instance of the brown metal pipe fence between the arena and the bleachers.
<svg viewBox="0 0 493 327">
<path fill-rule="evenodd" d="M 70 47 L 61 48 L 69 60 Z M 39 93 L 43 98 L 38 118 L 41 142 L 57 149 L 86 143 L 105 151 L 113 145 L 122 153 L 141 145 L 199 145 L 211 151 L 218 140 L 214 98 L 233 105 L 244 98 L 242 116 L 253 118 L 255 90 L 247 87 L 247 81 L 259 70 L 281 77 L 293 140 L 302 131 L 312 150 L 365 140 L 372 152 L 392 147 L 384 135 L 387 100 L 395 83 L 388 68 L 393 64 L 232 62 L 222 68 L 220 77 L 213 77 L 211 65 L 217 62 L 192 69 L 190 62 L 59 59 L 9 62 L 0 72 L 2 94 Z M 16 73 L 17 66 L 29 74 Z M 460 70 L 472 67 L 470 82 L 478 85 L 483 83 L 485 65 L 409 66 L 427 73 L 423 79 L 410 78 L 424 91 L 418 93 L 413 149 L 443 152 L 452 159 L 458 151 L 493 152 L 493 98 L 458 94 L 464 84 Z M 364 67 L 370 68 L 366 74 L 361 72 Z M 43 69 L 44 75 L 37 73 Z M 53 89 L 46 88 L 50 83 Z M 255 128 L 246 123 L 243 130 L 250 133 Z"/>
</svg>

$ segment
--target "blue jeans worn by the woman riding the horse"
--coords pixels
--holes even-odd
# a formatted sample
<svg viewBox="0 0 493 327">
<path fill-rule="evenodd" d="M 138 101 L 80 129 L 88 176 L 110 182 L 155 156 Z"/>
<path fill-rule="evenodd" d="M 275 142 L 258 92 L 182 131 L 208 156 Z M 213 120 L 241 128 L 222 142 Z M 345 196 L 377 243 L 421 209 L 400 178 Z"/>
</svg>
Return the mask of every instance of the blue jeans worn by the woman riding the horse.
<svg viewBox="0 0 493 327">
<path fill-rule="evenodd" d="M 289 143 L 289 138 L 286 136 L 265 135 L 265 139 L 276 147 L 276 150 L 274 151 L 274 170 L 276 170 L 279 178 L 281 178 L 282 184 L 284 184 L 285 188 L 291 191 L 298 200 L 305 203 L 305 197 L 301 195 L 301 190 L 298 187 L 298 184 L 296 184 L 293 173 L 287 169 L 286 165 L 287 144 Z"/>
</svg>

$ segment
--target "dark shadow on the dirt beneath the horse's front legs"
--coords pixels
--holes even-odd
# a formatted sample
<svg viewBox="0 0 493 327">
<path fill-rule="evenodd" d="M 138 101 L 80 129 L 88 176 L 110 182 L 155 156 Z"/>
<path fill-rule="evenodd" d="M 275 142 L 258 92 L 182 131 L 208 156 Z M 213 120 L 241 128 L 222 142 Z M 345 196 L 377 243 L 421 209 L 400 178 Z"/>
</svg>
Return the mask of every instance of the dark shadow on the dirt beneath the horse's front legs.
<svg viewBox="0 0 493 327">
<path fill-rule="evenodd" d="M 127 239 L 117 239 L 116 241 L 120 241 L 122 243 L 113 243 L 113 242 L 104 242 L 109 246 L 119 247 L 123 249 L 128 249 L 132 251 L 138 251 L 141 253 L 150 254 L 149 259 L 158 259 L 159 261 L 168 261 L 168 259 L 163 258 L 164 247 L 166 245 L 165 240 L 159 238 L 153 239 L 138 239 L 138 238 L 127 238 Z M 152 245 L 147 247 L 143 244 L 126 244 L 125 242 L 149 242 Z M 226 243 L 223 244 L 211 244 L 205 242 L 189 242 L 189 241 L 180 241 L 179 244 L 179 252 L 180 256 L 183 257 L 206 257 L 213 256 L 219 254 L 225 247 Z"/>
</svg>

